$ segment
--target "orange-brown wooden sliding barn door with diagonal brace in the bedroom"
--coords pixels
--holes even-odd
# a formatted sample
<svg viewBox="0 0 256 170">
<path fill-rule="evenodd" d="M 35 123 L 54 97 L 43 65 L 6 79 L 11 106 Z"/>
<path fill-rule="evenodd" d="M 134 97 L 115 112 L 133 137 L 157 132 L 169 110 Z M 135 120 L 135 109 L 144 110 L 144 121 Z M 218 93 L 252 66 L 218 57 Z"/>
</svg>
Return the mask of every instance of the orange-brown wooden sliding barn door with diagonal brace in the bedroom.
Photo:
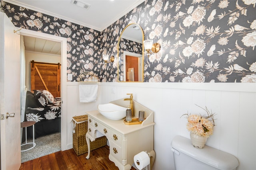
<svg viewBox="0 0 256 170">
<path fill-rule="evenodd" d="M 60 64 L 31 61 L 31 91 L 47 90 L 60 97 Z"/>
</svg>

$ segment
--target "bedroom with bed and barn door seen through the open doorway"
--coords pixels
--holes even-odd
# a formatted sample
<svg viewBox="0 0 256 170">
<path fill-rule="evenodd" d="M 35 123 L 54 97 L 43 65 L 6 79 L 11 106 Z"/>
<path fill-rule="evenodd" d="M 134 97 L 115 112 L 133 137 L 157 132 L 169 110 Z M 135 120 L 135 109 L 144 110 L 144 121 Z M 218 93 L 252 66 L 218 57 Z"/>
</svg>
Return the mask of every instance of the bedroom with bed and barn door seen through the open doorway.
<svg viewBox="0 0 256 170">
<path fill-rule="evenodd" d="M 32 36 L 23 36 L 23 41 L 26 101 L 29 101 L 26 102 L 24 121 L 37 121 L 35 124 L 36 147 L 22 152 L 22 162 L 26 162 L 61 150 L 62 50 L 61 43 L 58 41 Z M 52 102 L 48 101 L 48 104 L 41 106 L 36 96 L 39 92 L 46 97 L 51 94 Z M 23 133 L 22 136 L 24 136 Z M 28 128 L 28 136 L 30 136 L 29 142 L 32 140 L 32 127 Z M 22 141 L 24 141 L 23 138 Z"/>
</svg>

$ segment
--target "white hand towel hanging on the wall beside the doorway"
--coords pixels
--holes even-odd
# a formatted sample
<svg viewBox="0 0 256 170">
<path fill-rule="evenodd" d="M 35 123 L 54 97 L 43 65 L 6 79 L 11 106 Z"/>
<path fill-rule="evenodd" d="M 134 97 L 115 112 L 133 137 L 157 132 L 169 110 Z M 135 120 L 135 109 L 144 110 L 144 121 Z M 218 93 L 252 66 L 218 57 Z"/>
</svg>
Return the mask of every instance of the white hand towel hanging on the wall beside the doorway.
<svg viewBox="0 0 256 170">
<path fill-rule="evenodd" d="M 80 102 L 96 102 L 98 84 L 79 84 Z"/>
</svg>

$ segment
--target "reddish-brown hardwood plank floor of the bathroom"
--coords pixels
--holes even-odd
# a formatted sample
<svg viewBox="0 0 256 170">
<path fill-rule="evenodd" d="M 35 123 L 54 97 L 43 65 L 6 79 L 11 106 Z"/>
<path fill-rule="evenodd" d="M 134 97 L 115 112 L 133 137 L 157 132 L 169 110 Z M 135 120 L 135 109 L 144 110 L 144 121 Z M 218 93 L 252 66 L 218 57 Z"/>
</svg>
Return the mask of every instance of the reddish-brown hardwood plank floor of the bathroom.
<svg viewBox="0 0 256 170">
<path fill-rule="evenodd" d="M 74 149 L 55 152 L 28 162 L 23 162 L 20 170 L 118 170 L 108 158 L 109 147 L 106 145 L 90 153 L 76 156 Z M 136 170 L 134 167 L 131 170 Z"/>
</svg>

